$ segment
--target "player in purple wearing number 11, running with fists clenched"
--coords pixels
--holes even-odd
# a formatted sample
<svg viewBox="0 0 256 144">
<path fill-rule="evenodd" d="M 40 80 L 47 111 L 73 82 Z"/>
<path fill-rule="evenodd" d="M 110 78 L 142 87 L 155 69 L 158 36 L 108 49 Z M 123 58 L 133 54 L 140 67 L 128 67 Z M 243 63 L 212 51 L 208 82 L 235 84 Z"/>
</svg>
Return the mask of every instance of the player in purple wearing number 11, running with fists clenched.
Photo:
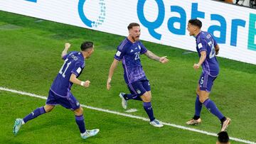
<svg viewBox="0 0 256 144">
<path fill-rule="evenodd" d="M 18 133 L 21 126 L 28 121 L 40 116 L 43 113 L 52 111 L 55 105 L 60 104 L 66 109 L 70 109 L 75 113 L 75 121 L 78 124 L 81 138 L 86 139 L 96 135 L 100 130 L 86 130 L 85 121 L 83 117 L 83 109 L 80 106 L 75 96 L 70 92 L 73 84 L 81 85 L 82 87 L 89 87 L 90 81 L 82 82 L 78 79 L 82 70 L 85 68 L 85 59 L 89 58 L 94 51 L 94 45 L 92 42 L 84 42 L 81 45 L 80 52 L 68 52 L 70 43 L 65 43 L 65 49 L 63 50 L 61 57 L 64 60 L 63 66 L 60 68 L 57 77 L 55 77 L 53 84 L 50 87 L 48 99 L 46 105 L 42 106 L 24 118 L 17 118 L 14 123 L 14 135 Z"/>
</svg>

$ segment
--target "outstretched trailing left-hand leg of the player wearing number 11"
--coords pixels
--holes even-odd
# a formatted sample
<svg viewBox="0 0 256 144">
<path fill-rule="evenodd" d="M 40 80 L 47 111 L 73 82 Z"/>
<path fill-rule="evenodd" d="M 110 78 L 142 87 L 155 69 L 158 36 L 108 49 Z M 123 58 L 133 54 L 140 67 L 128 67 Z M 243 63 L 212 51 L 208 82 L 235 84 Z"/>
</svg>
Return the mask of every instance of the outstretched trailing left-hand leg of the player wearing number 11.
<svg viewBox="0 0 256 144">
<path fill-rule="evenodd" d="M 55 104 L 56 104 L 56 101 L 55 101 L 54 93 L 49 91 L 48 99 L 46 101 L 46 106 L 41 106 L 35 109 L 24 118 L 16 118 L 14 122 L 14 129 L 13 129 L 14 135 L 18 133 L 19 129 L 23 124 L 27 123 L 28 121 L 31 121 L 33 118 L 36 118 L 42 115 L 43 113 L 50 112 L 54 108 Z"/>
</svg>

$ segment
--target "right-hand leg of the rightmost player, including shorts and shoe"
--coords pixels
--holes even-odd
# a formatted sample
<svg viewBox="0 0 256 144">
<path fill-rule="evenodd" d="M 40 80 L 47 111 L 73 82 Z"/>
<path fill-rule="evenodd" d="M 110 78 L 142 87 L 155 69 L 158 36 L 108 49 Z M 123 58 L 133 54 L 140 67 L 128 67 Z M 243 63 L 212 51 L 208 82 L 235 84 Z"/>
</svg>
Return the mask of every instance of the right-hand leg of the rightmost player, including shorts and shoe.
<svg viewBox="0 0 256 144">
<path fill-rule="evenodd" d="M 225 129 L 230 124 L 230 118 L 226 118 L 225 116 L 223 116 L 223 113 L 219 111 L 215 103 L 209 98 L 210 91 L 213 87 L 213 82 L 215 79 L 216 77 L 210 77 L 208 74 L 205 74 L 204 77 L 201 79 L 199 101 L 203 103 L 204 106 L 206 106 L 206 109 L 208 109 L 210 113 L 213 113 L 213 115 L 217 116 L 220 119 L 222 123 L 221 131 L 225 131 Z"/>
</svg>

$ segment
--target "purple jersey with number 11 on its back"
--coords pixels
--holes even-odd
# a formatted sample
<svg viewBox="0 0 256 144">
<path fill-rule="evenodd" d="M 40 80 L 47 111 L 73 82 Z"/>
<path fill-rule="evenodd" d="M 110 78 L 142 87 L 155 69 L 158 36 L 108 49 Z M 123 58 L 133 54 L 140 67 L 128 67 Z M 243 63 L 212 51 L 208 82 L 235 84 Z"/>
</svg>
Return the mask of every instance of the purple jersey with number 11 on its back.
<svg viewBox="0 0 256 144">
<path fill-rule="evenodd" d="M 50 87 L 50 90 L 59 96 L 67 96 L 73 85 L 73 83 L 70 82 L 71 74 L 75 74 L 76 77 L 79 77 L 85 67 L 85 59 L 81 52 L 69 52 L 63 57 L 63 60 L 65 60 L 64 64 Z"/>
</svg>

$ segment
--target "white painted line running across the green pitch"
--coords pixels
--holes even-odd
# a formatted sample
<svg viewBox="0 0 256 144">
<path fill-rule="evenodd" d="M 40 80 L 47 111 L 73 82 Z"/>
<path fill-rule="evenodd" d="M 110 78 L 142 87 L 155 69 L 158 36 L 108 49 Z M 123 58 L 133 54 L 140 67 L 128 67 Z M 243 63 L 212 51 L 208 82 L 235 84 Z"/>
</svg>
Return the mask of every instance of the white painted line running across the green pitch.
<svg viewBox="0 0 256 144">
<path fill-rule="evenodd" d="M 37 94 L 31 94 L 31 93 L 28 93 L 28 92 L 21 92 L 21 91 L 17 91 L 17 90 L 14 90 L 14 89 L 7 89 L 7 88 L 4 88 L 4 87 L 0 87 L 0 90 L 1 91 L 6 91 L 6 92 L 12 92 L 12 93 L 16 93 L 16 94 L 22 94 L 22 95 L 26 95 L 26 96 L 32 96 L 32 97 L 36 97 L 36 98 L 40 98 L 40 99 L 47 99 L 46 96 L 39 96 Z M 113 113 L 113 114 L 116 114 L 116 115 L 119 115 L 119 116 L 126 116 L 126 117 L 129 117 L 129 118 L 137 118 L 137 119 L 140 119 L 142 121 L 149 121 L 148 118 L 143 118 L 141 116 L 133 116 L 133 115 L 127 114 L 127 113 L 120 113 L 120 112 L 117 112 L 117 111 L 110 111 L 110 110 L 107 110 L 107 109 L 101 109 L 101 108 L 96 108 L 96 107 L 92 107 L 92 106 L 85 106 L 83 104 L 80 104 L 80 105 L 82 107 L 87 108 L 87 109 L 93 109 L 93 110 L 96 110 L 96 111 L 103 111 L 103 112 L 106 112 L 106 113 Z M 172 126 L 174 128 L 181 128 L 183 130 L 193 131 L 193 132 L 196 132 L 196 133 L 203 133 L 205 135 L 212 135 L 212 136 L 217 137 L 217 133 L 210 133 L 208 131 L 201 131 L 201 130 L 198 130 L 196 128 L 188 128 L 186 126 L 179 126 L 179 125 L 176 125 L 176 124 L 173 124 L 173 123 L 165 123 L 165 122 L 162 122 L 162 123 L 166 126 Z M 240 138 L 230 137 L 230 140 L 234 140 L 234 141 L 241 142 L 241 143 L 256 144 L 255 142 L 252 142 L 250 140 L 242 140 Z"/>
</svg>

